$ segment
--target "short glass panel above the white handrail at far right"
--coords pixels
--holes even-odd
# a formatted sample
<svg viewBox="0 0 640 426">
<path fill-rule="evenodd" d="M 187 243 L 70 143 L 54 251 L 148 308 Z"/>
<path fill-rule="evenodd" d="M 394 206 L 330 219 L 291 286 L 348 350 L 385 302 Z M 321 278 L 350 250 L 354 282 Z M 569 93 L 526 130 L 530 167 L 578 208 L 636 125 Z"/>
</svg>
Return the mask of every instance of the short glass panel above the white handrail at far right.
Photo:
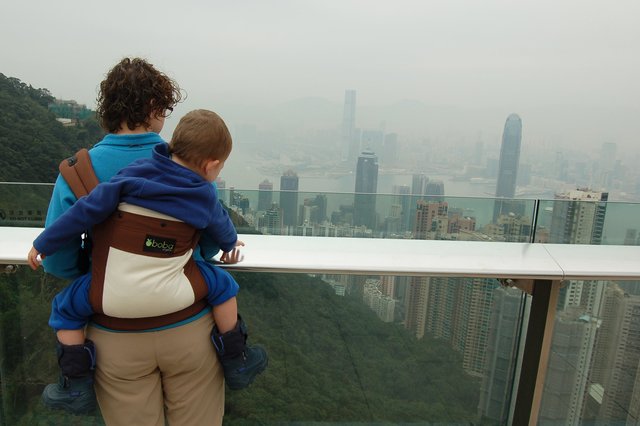
<svg viewBox="0 0 640 426">
<path fill-rule="evenodd" d="M 640 245 L 640 204 L 597 201 L 593 194 L 592 201 L 540 201 L 536 241 Z"/>
</svg>

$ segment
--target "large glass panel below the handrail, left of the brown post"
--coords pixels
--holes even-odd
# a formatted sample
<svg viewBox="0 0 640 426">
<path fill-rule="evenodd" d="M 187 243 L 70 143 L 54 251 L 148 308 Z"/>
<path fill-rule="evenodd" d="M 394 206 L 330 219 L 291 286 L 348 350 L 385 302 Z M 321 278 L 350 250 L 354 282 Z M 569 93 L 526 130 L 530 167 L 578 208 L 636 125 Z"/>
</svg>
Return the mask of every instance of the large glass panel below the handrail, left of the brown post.
<svg viewBox="0 0 640 426">
<path fill-rule="evenodd" d="M 225 424 L 505 424 L 526 296 L 480 278 L 234 273 L 269 367 L 227 392 Z M 40 403 L 57 378 L 63 282 L 0 275 L 0 424 L 102 424 Z M 99 354 L 98 354 L 99 356 Z"/>
</svg>

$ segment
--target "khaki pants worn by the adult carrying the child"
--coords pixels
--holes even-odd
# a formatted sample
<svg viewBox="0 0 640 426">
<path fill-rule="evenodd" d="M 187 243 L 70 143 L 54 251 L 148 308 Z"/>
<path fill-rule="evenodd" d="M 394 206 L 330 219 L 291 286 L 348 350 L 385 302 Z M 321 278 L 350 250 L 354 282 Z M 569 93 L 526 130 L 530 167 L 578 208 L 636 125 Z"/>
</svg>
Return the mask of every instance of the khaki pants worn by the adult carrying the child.
<svg viewBox="0 0 640 426">
<path fill-rule="evenodd" d="M 147 333 L 88 327 L 97 353 L 95 389 L 108 426 L 221 425 L 224 375 L 204 315 Z"/>
</svg>

